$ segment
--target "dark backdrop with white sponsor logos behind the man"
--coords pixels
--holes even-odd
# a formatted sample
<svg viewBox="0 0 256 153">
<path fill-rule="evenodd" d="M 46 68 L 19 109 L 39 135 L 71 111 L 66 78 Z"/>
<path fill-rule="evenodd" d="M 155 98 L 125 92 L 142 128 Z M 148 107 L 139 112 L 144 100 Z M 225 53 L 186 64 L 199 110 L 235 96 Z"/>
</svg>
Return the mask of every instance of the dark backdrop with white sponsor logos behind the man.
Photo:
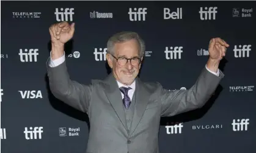
<svg viewBox="0 0 256 153">
<path fill-rule="evenodd" d="M 230 47 L 225 77 L 199 110 L 162 118 L 159 150 L 256 152 L 256 3 L 243 1 L 1 2 L 1 152 L 86 152 L 86 114 L 54 98 L 46 60 L 49 26 L 76 23 L 66 45 L 70 77 L 82 84 L 104 79 L 106 42 L 122 30 L 145 40 L 140 77 L 169 90 L 187 90 L 208 60 L 208 43 Z"/>
</svg>

